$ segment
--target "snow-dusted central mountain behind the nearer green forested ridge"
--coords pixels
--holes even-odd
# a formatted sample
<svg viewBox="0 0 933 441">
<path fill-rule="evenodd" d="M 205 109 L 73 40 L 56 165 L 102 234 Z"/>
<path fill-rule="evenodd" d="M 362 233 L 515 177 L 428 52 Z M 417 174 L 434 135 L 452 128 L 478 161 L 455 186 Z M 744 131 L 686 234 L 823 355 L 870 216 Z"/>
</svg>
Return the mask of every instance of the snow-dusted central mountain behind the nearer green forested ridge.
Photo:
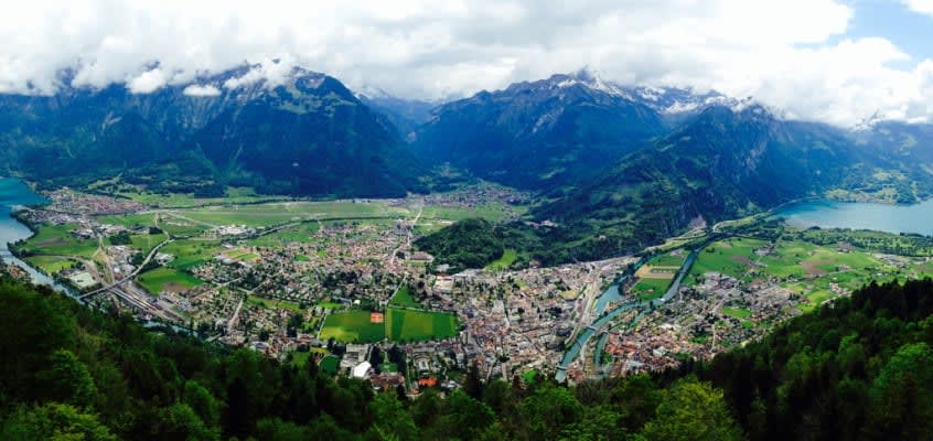
<svg viewBox="0 0 933 441">
<path fill-rule="evenodd" d="M 433 110 L 412 149 L 485 180 L 550 190 L 592 176 L 664 132 L 650 107 L 586 73 L 482 92 Z"/>
</svg>

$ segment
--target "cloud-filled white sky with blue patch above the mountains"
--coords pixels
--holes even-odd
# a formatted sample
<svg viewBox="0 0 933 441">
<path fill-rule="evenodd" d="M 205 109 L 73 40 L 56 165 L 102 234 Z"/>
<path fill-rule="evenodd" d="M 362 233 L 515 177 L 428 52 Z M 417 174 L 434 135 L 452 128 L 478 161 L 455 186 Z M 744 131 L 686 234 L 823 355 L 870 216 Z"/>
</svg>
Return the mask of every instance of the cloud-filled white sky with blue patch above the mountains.
<svg viewBox="0 0 933 441">
<path fill-rule="evenodd" d="M 129 3 L 133 3 L 130 6 Z M 802 119 L 933 121 L 933 0 L 3 1 L 0 92 L 62 69 L 137 93 L 300 64 L 352 88 L 443 98 L 583 66 L 714 88 Z M 157 66 L 157 67 L 153 67 Z M 192 88 L 211 95 L 213 86 Z"/>
</svg>

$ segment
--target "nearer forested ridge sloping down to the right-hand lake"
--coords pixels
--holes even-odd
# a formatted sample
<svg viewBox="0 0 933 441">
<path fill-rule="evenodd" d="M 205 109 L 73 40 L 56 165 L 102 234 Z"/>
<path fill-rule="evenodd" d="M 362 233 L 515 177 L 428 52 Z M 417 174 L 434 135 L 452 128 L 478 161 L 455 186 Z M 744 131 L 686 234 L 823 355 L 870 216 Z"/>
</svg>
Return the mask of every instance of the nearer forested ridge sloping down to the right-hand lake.
<svg viewBox="0 0 933 441">
<path fill-rule="evenodd" d="M 933 194 L 931 178 L 922 162 L 839 129 L 784 121 L 758 106 L 711 107 L 599 176 L 551 192 L 533 215 L 559 225 L 543 233 L 566 248 L 550 260 L 585 260 L 636 251 L 691 222 L 711 225 L 839 190 L 916 202 Z"/>
</svg>

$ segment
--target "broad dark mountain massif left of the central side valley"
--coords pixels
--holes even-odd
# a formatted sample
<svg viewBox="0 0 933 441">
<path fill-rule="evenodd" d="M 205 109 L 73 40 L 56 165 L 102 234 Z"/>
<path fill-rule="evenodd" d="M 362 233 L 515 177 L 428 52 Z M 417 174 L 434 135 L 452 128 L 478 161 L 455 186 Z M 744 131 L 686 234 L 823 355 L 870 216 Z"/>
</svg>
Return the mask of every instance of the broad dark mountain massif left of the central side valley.
<svg viewBox="0 0 933 441">
<path fill-rule="evenodd" d="M 422 173 L 397 129 L 333 77 L 250 66 L 133 94 L 65 86 L 0 96 L 0 164 L 45 185 L 120 175 L 156 191 L 399 196 Z"/>
</svg>

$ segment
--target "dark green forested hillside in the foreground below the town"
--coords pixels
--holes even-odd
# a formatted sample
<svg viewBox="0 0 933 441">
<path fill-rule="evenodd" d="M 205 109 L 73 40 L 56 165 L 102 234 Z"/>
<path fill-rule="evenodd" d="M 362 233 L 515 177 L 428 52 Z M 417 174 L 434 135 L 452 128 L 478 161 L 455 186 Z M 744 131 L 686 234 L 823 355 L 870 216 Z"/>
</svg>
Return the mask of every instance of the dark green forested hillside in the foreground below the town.
<svg viewBox="0 0 933 441">
<path fill-rule="evenodd" d="M 933 281 L 871 286 L 678 372 L 374 394 L 0 280 L 4 440 L 929 440 Z M 725 390 L 725 394 L 723 394 Z"/>
</svg>

